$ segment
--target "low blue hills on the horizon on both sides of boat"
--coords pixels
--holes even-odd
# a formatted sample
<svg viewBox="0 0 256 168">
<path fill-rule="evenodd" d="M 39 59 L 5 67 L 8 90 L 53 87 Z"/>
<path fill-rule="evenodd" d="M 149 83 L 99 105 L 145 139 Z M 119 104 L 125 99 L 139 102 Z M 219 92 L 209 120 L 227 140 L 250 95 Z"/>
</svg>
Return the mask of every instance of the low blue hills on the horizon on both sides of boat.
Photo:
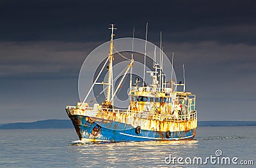
<svg viewBox="0 0 256 168">
<path fill-rule="evenodd" d="M 243 121 L 199 121 L 198 127 L 256 126 L 256 122 Z M 0 129 L 73 129 L 70 120 L 42 120 L 27 123 L 0 124 Z"/>
</svg>

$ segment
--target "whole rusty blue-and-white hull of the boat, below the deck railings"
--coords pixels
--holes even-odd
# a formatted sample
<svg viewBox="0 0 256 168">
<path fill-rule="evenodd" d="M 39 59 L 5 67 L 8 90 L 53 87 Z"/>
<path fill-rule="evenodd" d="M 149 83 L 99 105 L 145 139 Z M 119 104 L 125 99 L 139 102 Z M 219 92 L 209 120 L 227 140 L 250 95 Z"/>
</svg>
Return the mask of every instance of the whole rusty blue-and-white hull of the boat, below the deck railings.
<svg viewBox="0 0 256 168">
<path fill-rule="evenodd" d="M 151 118 L 131 117 L 130 114 L 115 114 L 114 116 L 111 115 L 112 111 L 100 111 L 98 113 L 101 118 L 98 118 L 97 115 L 86 115 L 86 112 L 81 109 L 66 109 L 66 111 L 81 141 L 192 140 L 196 134 L 196 118 L 195 120 L 184 118 L 184 120 L 176 121 L 163 118 L 163 121 L 159 121 Z M 118 121 L 120 116 L 122 121 L 120 119 Z M 195 114 L 190 116 L 195 117 Z M 136 131 L 137 125 L 140 125 L 140 132 Z"/>
</svg>

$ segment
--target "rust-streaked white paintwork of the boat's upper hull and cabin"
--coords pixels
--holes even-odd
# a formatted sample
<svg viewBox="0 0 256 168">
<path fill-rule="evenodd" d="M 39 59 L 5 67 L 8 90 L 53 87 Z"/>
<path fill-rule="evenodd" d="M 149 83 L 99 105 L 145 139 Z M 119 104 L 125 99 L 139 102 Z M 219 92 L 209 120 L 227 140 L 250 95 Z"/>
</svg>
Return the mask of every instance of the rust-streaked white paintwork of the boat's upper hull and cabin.
<svg viewBox="0 0 256 168">
<path fill-rule="evenodd" d="M 148 95 L 148 92 L 135 92 L 135 95 Z M 95 118 L 101 118 L 104 120 L 109 120 L 113 122 L 120 122 L 132 125 L 132 127 L 140 126 L 143 130 L 154 130 L 159 132 L 180 132 L 185 131 L 188 132 L 191 129 L 196 129 L 197 127 L 197 118 L 196 111 L 189 110 L 188 115 L 178 114 L 177 109 L 180 106 L 182 109 L 182 113 L 186 113 L 187 106 L 191 106 L 191 101 L 185 102 L 184 99 L 182 102 L 179 100 L 177 104 L 171 104 L 170 102 L 164 102 L 163 93 L 158 93 L 157 97 L 159 97 L 160 102 L 141 102 L 141 101 L 131 101 L 129 110 L 115 110 L 112 109 L 103 109 L 99 108 L 95 111 Z M 168 97 L 167 97 L 168 98 Z M 170 97 L 169 97 L 170 98 Z M 175 100 L 176 103 L 176 100 Z M 187 105 L 186 105 L 187 103 Z M 92 111 L 92 108 L 86 109 L 66 109 L 68 116 L 72 118 L 72 115 L 81 115 L 83 117 L 86 113 Z M 176 113 L 176 115 L 175 115 Z M 81 125 L 82 123 L 79 120 L 74 120 L 72 118 L 73 124 Z M 90 121 L 90 117 L 86 118 L 86 121 Z M 92 121 L 93 122 L 93 121 Z M 111 125 L 111 122 L 110 122 Z M 118 126 L 113 125 L 114 129 Z M 77 132 L 79 132 L 79 127 L 76 127 Z M 180 136 L 180 135 L 179 135 Z M 159 134 L 161 137 L 161 134 Z"/>
</svg>

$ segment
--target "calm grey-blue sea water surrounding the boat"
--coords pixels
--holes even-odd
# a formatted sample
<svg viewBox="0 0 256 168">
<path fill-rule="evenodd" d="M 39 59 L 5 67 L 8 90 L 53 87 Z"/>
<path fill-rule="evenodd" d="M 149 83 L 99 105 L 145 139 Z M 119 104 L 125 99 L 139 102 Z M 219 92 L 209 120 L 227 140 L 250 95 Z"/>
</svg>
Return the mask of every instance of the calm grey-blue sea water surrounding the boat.
<svg viewBox="0 0 256 168">
<path fill-rule="evenodd" d="M 76 143 L 74 129 L 0 130 L 0 167 L 255 167 L 255 129 L 198 127 L 193 141 L 85 144 Z M 211 155 L 215 164 L 205 161 Z M 195 157 L 202 164 L 193 163 Z M 230 165 L 221 164 L 223 157 Z"/>
</svg>

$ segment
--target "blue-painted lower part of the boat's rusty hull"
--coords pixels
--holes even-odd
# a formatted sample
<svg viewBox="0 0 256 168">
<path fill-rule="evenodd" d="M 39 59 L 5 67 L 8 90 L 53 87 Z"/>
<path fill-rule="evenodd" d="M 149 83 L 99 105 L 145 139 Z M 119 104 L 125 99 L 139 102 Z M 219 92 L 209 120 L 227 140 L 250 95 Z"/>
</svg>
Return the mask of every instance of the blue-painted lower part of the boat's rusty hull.
<svg viewBox="0 0 256 168">
<path fill-rule="evenodd" d="M 70 119 L 76 129 L 80 140 L 85 141 L 173 141 L 192 140 L 195 137 L 196 129 L 170 132 L 153 130 L 140 130 L 127 123 L 113 122 L 100 118 L 92 118 L 82 115 L 70 115 Z M 168 132 L 169 133 L 169 132 Z"/>
</svg>

